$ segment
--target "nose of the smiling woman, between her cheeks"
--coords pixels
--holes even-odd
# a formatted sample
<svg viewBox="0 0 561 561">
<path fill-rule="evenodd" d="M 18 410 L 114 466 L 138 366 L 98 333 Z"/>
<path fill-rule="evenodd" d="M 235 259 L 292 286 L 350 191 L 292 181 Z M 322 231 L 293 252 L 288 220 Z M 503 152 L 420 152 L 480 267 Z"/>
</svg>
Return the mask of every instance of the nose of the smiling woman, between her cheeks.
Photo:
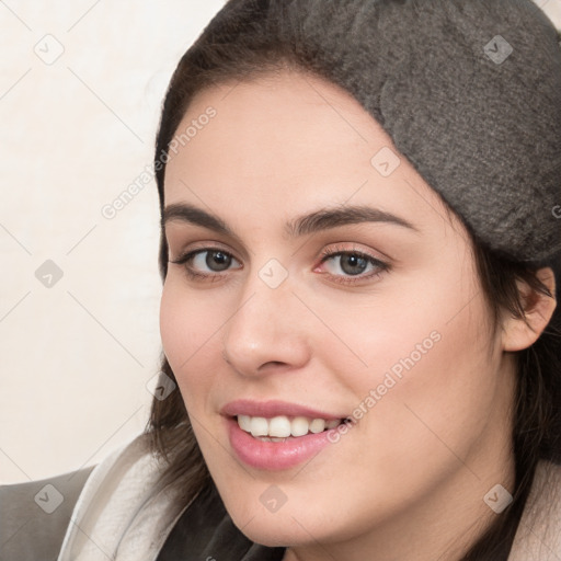
<svg viewBox="0 0 561 561">
<path fill-rule="evenodd" d="M 253 273 L 224 327 L 224 359 L 247 377 L 301 368 L 310 357 L 305 310 L 288 278 L 272 288 Z"/>
</svg>

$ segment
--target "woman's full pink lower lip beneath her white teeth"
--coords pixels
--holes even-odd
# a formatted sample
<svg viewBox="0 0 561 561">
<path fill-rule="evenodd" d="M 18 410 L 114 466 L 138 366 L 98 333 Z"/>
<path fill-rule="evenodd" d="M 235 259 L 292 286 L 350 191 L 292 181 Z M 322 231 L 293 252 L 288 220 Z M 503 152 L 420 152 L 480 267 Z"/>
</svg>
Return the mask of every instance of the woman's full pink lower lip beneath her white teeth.
<svg viewBox="0 0 561 561">
<path fill-rule="evenodd" d="M 233 417 L 226 420 L 230 445 L 248 466 L 265 470 L 289 469 L 312 458 L 328 444 L 328 431 L 290 438 L 284 443 L 267 443 L 242 431 Z"/>
</svg>

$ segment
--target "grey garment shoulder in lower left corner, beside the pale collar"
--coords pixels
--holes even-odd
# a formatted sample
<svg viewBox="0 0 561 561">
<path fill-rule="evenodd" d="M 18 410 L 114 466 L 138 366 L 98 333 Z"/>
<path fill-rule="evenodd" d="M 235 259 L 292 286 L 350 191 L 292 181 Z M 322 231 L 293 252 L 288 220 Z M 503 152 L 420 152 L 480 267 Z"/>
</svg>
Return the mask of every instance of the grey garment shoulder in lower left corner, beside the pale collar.
<svg viewBox="0 0 561 561">
<path fill-rule="evenodd" d="M 0 559 L 56 560 L 75 504 L 94 467 L 0 485 Z"/>
</svg>

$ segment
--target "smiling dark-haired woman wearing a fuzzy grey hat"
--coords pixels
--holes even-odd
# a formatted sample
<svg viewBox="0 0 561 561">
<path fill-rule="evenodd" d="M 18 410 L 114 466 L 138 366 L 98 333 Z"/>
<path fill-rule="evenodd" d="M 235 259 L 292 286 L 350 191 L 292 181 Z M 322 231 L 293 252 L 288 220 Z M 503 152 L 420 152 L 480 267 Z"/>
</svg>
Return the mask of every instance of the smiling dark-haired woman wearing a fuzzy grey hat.
<svg viewBox="0 0 561 561">
<path fill-rule="evenodd" d="M 160 394 L 59 561 L 560 559 L 560 127 L 529 0 L 230 0 L 157 139 Z"/>
</svg>

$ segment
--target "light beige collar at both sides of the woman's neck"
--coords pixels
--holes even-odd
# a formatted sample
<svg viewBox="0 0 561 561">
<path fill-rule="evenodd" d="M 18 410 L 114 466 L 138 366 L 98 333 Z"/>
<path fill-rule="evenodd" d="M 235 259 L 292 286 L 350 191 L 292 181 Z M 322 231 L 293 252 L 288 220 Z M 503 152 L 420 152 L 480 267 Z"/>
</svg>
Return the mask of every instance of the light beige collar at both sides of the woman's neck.
<svg viewBox="0 0 561 561">
<path fill-rule="evenodd" d="M 156 561 L 186 508 L 159 488 L 159 476 L 146 434 L 104 458 L 78 497 L 57 561 Z M 561 561 L 561 466 L 538 465 L 508 561 Z"/>
</svg>

